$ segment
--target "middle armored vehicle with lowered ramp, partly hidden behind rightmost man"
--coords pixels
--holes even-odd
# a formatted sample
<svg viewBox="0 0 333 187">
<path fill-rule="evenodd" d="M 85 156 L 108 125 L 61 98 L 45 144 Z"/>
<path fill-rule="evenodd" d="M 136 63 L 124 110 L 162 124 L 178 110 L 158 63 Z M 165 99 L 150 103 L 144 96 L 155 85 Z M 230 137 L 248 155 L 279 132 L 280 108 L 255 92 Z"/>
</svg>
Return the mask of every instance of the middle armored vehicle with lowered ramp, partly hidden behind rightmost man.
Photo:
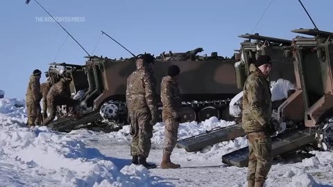
<svg viewBox="0 0 333 187">
<path fill-rule="evenodd" d="M 266 37 L 262 35 L 240 35 L 239 37 L 246 38 L 241 43 L 241 61 L 235 64 L 235 73 L 237 78 L 237 87 L 243 91 L 244 82 L 249 74 L 249 66 L 259 55 L 270 55 L 273 69 L 268 77 L 270 81 L 276 81 L 280 78 L 289 80 L 296 84 L 295 73 L 293 71 L 293 58 L 284 54 L 284 47 L 290 46 L 292 41 L 288 39 L 280 39 L 275 37 Z M 273 109 L 278 110 L 283 100 L 273 102 Z M 241 109 L 241 103 L 237 103 L 237 107 Z M 275 112 L 276 113 L 276 112 Z M 241 115 L 240 115 L 241 117 Z M 245 136 L 241 124 L 237 123 L 229 127 L 216 128 L 205 134 L 189 137 L 178 141 L 178 148 L 185 148 L 187 152 L 198 151 L 209 145 L 222 141 L 229 141 L 239 136 Z"/>
</svg>

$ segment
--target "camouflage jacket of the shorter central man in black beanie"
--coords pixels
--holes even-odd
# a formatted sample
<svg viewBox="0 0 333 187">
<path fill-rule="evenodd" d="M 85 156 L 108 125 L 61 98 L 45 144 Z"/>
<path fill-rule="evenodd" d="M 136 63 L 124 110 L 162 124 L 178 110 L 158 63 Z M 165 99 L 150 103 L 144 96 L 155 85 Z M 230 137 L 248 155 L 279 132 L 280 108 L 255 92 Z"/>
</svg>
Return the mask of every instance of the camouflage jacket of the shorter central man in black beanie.
<svg viewBox="0 0 333 187">
<path fill-rule="evenodd" d="M 179 109 L 182 106 L 182 98 L 178 88 L 178 82 L 171 78 L 171 76 L 162 78 L 161 101 L 163 104 L 163 121 L 171 117 L 177 118 Z"/>
</svg>

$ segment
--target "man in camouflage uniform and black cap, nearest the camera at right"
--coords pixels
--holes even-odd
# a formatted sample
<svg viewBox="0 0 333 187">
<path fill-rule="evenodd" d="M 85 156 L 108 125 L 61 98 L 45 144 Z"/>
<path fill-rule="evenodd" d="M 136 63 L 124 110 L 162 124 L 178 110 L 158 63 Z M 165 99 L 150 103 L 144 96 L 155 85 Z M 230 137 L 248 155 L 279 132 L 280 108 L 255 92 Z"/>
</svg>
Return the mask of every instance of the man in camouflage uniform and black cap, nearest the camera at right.
<svg viewBox="0 0 333 187">
<path fill-rule="evenodd" d="M 250 64 L 250 75 L 244 84 L 242 127 L 248 136 L 248 186 L 261 187 L 272 165 L 271 90 L 267 76 L 271 57 L 259 56 Z"/>
</svg>

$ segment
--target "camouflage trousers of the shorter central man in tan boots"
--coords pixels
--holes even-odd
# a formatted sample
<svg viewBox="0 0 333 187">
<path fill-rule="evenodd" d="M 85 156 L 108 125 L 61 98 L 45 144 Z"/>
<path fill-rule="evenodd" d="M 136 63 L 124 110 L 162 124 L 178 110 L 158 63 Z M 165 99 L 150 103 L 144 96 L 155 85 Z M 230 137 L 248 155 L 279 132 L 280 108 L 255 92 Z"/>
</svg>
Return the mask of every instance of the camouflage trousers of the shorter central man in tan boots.
<svg viewBox="0 0 333 187">
<path fill-rule="evenodd" d="M 164 121 L 164 143 L 163 152 L 171 155 L 173 148 L 175 148 L 178 137 L 179 122 L 176 118 L 167 118 Z"/>
</svg>

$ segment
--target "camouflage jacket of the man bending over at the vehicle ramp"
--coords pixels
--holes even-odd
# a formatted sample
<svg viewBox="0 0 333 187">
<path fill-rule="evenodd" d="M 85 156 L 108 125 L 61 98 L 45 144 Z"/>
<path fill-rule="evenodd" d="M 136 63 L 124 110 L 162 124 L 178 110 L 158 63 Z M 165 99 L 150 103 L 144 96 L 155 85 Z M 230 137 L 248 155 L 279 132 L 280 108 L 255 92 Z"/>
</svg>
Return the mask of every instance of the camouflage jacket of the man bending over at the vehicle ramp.
<svg viewBox="0 0 333 187">
<path fill-rule="evenodd" d="M 53 84 L 50 88 L 49 92 L 46 95 L 47 103 L 61 103 L 60 98 L 70 98 L 71 91 L 69 89 L 69 84 L 65 81 L 65 79 L 60 79 L 59 82 Z"/>
</svg>

